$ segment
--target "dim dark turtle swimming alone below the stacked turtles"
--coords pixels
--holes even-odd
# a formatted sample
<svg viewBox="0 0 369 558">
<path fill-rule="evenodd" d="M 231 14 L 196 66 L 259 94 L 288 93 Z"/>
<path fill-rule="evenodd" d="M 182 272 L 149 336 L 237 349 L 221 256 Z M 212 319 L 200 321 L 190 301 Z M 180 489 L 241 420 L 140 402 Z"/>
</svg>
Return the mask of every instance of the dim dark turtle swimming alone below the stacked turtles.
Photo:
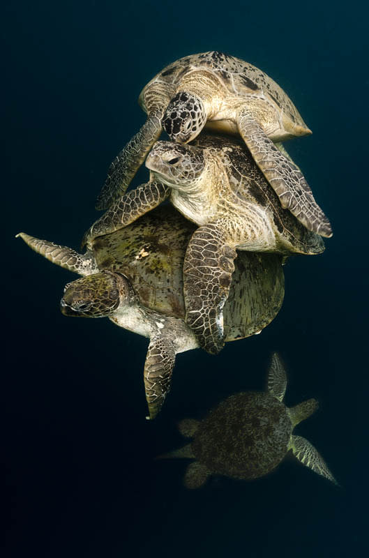
<svg viewBox="0 0 369 558">
<path fill-rule="evenodd" d="M 266 392 L 231 395 L 202 421 L 185 419 L 179 430 L 193 442 L 160 458 L 195 459 L 186 471 L 185 485 L 198 488 L 211 474 L 253 480 L 275 469 L 288 451 L 315 473 L 336 483 L 317 450 L 292 430 L 315 412 L 318 402 L 309 399 L 288 408 L 283 403 L 287 378 L 274 353 Z"/>
</svg>

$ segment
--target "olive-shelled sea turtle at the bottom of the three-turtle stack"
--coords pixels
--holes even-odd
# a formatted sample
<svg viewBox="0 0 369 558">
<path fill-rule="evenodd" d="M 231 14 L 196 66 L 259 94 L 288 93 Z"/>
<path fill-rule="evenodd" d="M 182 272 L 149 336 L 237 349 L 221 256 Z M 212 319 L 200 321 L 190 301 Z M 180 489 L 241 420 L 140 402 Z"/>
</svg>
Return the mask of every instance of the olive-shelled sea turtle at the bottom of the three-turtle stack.
<svg viewBox="0 0 369 558">
<path fill-rule="evenodd" d="M 118 326 L 150 338 L 144 384 L 151 418 L 170 389 L 176 353 L 198 347 L 183 321 L 183 259 L 194 229 L 167 205 L 126 229 L 99 237 L 84 255 L 19 235 L 54 264 L 84 276 L 66 285 L 63 314 L 110 317 Z M 225 305 L 226 340 L 259 333 L 276 316 L 284 296 L 281 259 L 276 254 L 240 253 Z"/>
</svg>

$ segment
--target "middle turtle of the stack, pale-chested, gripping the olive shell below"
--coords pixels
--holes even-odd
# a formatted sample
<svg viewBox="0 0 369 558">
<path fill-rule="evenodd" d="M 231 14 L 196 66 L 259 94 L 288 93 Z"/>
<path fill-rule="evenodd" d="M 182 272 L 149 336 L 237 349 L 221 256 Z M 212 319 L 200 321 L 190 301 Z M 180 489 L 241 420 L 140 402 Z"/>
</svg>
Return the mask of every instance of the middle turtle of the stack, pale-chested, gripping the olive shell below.
<svg viewBox="0 0 369 558">
<path fill-rule="evenodd" d="M 318 254 L 322 237 L 303 227 L 255 165 L 243 142 L 199 136 L 193 144 L 157 142 L 146 159 L 149 183 L 126 193 L 92 225 L 87 246 L 102 234 L 132 223 L 170 197 L 199 225 L 183 266 L 186 323 L 211 354 L 224 345 L 222 308 L 236 250 Z"/>
</svg>

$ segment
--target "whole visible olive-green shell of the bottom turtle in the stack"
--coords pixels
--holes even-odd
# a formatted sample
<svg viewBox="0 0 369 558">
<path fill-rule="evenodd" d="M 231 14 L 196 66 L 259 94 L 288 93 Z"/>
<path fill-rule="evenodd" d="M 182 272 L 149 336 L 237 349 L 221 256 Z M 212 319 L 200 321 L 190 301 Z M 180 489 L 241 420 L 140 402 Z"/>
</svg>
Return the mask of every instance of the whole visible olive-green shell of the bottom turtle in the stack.
<svg viewBox="0 0 369 558">
<path fill-rule="evenodd" d="M 143 306 L 184 319 L 183 259 L 195 225 L 171 205 L 93 243 L 101 270 L 123 273 Z M 284 275 L 276 254 L 238 252 L 224 316 L 227 340 L 253 335 L 282 306 Z"/>
</svg>

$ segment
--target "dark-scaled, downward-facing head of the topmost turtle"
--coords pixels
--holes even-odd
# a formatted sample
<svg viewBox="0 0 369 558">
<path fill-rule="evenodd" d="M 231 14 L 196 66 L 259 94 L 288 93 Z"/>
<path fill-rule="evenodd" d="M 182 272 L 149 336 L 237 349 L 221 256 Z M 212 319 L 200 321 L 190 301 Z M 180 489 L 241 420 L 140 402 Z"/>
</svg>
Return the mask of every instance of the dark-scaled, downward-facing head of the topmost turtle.
<svg viewBox="0 0 369 558">
<path fill-rule="evenodd" d="M 186 144 L 201 132 L 206 123 L 206 110 L 202 100 L 186 91 L 180 91 L 170 101 L 163 117 L 163 128 L 172 142 Z"/>
</svg>

